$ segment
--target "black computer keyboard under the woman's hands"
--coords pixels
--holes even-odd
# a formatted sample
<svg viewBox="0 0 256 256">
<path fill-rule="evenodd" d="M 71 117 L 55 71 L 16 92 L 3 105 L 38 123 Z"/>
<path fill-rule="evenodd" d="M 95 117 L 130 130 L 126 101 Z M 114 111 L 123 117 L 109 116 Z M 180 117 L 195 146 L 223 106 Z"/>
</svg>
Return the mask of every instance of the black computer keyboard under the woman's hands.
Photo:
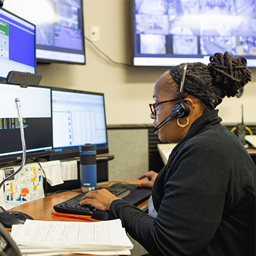
<svg viewBox="0 0 256 256">
<path fill-rule="evenodd" d="M 102 188 L 97 188 L 102 189 Z M 131 193 L 130 190 L 126 188 L 113 188 L 109 187 L 106 188 L 109 192 L 111 192 L 113 195 L 124 198 L 125 196 L 129 195 Z M 79 202 L 83 198 L 83 196 L 88 193 L 81 193 L 80 195 L 74 196 L 70 198 L 69 200 L 62 202 L 60 204 L 54 205 L 54 210 L 56 212 L 63 212 L 63 213 L 71 213 L 71 214 L 81 214 L 81 215 L 92 215 L 93 212 L 95 212 L 97 209 L 95 207 L 92 207 L 92 205 L 80 205 Z"/>
</svg>

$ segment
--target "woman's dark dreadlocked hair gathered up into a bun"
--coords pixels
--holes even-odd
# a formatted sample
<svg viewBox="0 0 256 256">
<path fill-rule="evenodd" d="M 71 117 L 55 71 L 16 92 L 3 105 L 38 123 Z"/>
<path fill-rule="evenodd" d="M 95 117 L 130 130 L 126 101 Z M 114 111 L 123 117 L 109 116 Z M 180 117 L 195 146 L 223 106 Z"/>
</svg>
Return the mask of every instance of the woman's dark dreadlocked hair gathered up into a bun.
<svg viewBox="0 0 256 256">
<path fill-rule="evenodd" d="M 210 61 L 208 66 L 200 62 L 188 63 L 184 82 L 184 93 L 201 100 L 203 113 L 216 108 L 225 96 L 234 97 L 239 88 L 252 79 L 244 57 L 216 53 Z M 184 66 L 183 63 L 168 70 L 177 84 L 180 84 Z"/>
</svg>

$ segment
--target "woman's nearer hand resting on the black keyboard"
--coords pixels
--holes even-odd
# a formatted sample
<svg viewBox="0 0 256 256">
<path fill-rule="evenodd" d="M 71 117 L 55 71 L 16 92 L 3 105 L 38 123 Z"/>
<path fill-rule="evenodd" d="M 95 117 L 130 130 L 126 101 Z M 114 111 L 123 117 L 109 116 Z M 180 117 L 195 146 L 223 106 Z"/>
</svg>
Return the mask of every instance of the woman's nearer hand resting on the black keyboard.
<svg viewBox="0 0 256 256">
<path fill-rule="evenodd" d="M 99 210 L 107 211 L 109 210 L 110 204 L 117 198 L 107 189 L 98 189 L 86 193 L 80 204 L 90 204 Z"/>
</svg>

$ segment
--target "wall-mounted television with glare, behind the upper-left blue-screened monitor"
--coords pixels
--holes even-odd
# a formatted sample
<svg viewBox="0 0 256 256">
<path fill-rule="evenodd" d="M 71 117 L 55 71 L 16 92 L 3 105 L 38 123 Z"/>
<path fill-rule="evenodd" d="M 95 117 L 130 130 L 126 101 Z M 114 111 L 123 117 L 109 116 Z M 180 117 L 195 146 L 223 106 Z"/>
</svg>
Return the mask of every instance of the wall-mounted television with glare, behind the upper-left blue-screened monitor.
<svg viewBox="0 0 256 256">
<path fill-rule="evenodd" d="M 11 0 L 4 8 L 36 24 L 37 62 L 85 64 L 83 0 Z"/>
</svg>

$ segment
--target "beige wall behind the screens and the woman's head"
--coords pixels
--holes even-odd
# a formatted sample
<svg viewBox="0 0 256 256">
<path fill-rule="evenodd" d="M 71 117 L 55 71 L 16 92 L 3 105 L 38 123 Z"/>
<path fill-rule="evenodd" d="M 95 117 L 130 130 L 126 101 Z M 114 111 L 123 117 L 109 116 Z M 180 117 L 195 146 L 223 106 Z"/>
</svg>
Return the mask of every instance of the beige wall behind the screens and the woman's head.
<svg viewBox="0 0 256 256">
<path fill-rule="evenodd" d="M 100 41 L 95 44 L 113 60 L 131 63 L 131 18 L 129 0 L 84 0 L 85 35 L 90 26 L 100 27 Z M 154 83 L 167 68 L 123 67 L 109 63 L 86 41 L 86 65 L 39 64 L 41 85 L 103 92 L 107 124 L 149 124 Z M 256 68 L 240 99 L 225 99 L 220 116 L 225 123 L 256 123 Z"/>
</svg>

